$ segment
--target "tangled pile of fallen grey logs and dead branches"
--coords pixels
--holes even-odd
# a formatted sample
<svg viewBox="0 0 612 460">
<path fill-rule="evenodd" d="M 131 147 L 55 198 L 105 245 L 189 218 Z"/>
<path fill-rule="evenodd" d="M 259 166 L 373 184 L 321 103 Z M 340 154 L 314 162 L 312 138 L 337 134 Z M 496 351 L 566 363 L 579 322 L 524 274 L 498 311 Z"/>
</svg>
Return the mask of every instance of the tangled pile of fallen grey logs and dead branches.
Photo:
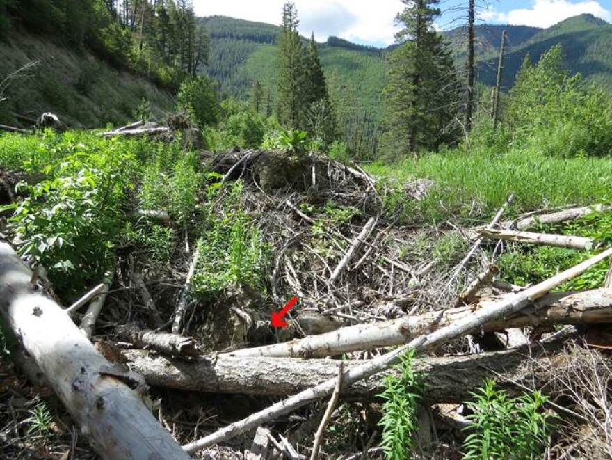
<svg viewBox="0 0 612 460">
<path fill-rule="evenodd" d="M 100 135 L 169 133 L 168 127 L 137 122 Z M 607 261 L 612 248 L 585 237 L 528 231 L 609 207 L 503 221 L 510 198 L 486 228 L 460 232 L 472 246 L 467 243 L 449 263 L 433 257 L 433 251 L 417 253 L 427 230 L 417 235 L 396 225 L 380 195 L 385 186 L 358 166 L 259 150 L 204 152 L 201 159 L 218 173 L 220 184 L 240 179 L 247 189 L 241 205 L 259 216 L 258 226 L 273 248 L 265 299 L 244 286 L 206 305 L 193 299 L 193 276 L 205 254 L 186 232 L 184 257 L 165 273 L 173 276 L 170 283 L 152 281 L 143 261 L 127 254 L 102 283 L 64 310 L 10 244 L 0 242 L 3 315 L 37 372 L 103 458 L 179 459 L 207 450 L 227 458 L 238 458 L 238 451 L 252 459 L 332 458 L 324 441 L 330 420 L 339 417 L 335 408 L 360 404 L 364 413 L 379 416 L 382 377 L 398 372 L 394 365 L 408 352 L 419 355 L 415 369 L 426 379 L 427 408 L 461 404 L 491 377 L 510 392 L 547 388 L 549 370 L 563 360 L 567 338 L 557 326 L 575 326 L 576 337 L 612 324 L 609 284 L 558 291 Z M 410 187 L 406 184 L 406 200 L 427 193 L 420 184 L 414 185 L 418 193 Z M 173 225 L 165 209 L 131 209 L 127 216 Z M 595 252 L 575 267 L 521 287 L 496 279 L 492 241 Z M 165 294 L 163 285 L 170 285 L 172 294 Z M 274 331 L 271 310 L 293 296 L 300 303 L 289 314 L 289 328 Z M 87 305 L 78 322 L 79 309 Z M 211 317 L 214 321 L 204 324 L 203 318 Z M 527 343 L 503 349 L 497 340 L 501 351 L 470 352 L 470 340 L 495 339 L 494 333 Z M 225 339 L 212 340 L 216 334 Z M 147 386 L 162 399 L 156 417 Z M 182 397 L 177 395 L 193 399 L 177 409 L 167 402 Z M 206 407 L 214 406 L 206 395 L 240 395 L 252 404 L 239 404 L 239 413 L 225 415 Z M 244 413 L 245 408 L 252 410 Z M 207 410 L 217 412 L 208 416 Z M 304 441 L 306 436 L 313 442 Z M 380 452 L 371 444 L 378 443 L 376 436 L 369 433 L 359 448 Z"/>
</svg>

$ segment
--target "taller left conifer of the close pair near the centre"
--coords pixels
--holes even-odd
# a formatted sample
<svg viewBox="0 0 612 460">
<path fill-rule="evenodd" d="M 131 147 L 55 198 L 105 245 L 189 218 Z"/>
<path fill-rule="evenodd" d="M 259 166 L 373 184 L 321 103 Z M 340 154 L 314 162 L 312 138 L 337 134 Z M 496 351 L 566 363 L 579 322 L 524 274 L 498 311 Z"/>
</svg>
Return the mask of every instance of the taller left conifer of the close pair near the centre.
<svg viewBox="0 0 612 460">
<path fill-rule="evenodd" d="M 292 2 L 282 9 L 278 59 L 278 116 L 287 128 L 304 129 L 307 108 L 307 73 L 304 49 L 298 34 L 298 11 Z"/>
</svg>

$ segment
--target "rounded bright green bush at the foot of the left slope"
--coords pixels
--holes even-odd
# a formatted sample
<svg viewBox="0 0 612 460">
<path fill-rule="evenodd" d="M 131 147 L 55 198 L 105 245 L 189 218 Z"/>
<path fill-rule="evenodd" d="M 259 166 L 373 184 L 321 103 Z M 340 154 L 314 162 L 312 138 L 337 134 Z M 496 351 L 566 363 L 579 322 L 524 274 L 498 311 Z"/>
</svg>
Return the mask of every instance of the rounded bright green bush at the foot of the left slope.
<svg viewBox="0 0 612 460">
<path fill-rule="evenodd" d="M 219 120 L 217 93 L 208 77 L 184 81 L 177 97 L 179 110 L 186 110 L 201 128 L 215 125 Z"/>
</svg>

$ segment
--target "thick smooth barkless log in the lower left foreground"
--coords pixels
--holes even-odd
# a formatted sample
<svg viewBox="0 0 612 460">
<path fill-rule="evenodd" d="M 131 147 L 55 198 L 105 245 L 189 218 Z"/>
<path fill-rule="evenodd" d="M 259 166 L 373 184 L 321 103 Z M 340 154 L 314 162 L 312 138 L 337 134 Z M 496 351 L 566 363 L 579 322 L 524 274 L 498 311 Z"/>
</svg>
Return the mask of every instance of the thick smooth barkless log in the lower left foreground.
<svg viewBox="0 0 612 460">
<path fill-rule="evenodd" d="M 108 362 L 57 303 L 35 290 L 32 272 L 0 241 L 0 310 L 40 372 L 104 459 L 187 459 L 155 420 L 135 376 Z"/>
</svg>

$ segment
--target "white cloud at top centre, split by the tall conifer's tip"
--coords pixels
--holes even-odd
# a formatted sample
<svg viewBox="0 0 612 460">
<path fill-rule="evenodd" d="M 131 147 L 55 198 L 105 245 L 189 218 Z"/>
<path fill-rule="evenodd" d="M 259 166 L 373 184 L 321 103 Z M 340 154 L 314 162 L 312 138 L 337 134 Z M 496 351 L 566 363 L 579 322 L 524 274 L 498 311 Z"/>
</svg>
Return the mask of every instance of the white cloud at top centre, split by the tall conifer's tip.
<svg viewBox="0 0 612 460">
<path fill-rule="evenodd" d="M 397 27 L 401 0 L 294 0 L 300 33 L 324 41 L 329 35 L 346 40 L 389 44 Z M 223 15 L 280 24 L 285 0 L 193 0 L 198 16 Z"/>
</svg>

